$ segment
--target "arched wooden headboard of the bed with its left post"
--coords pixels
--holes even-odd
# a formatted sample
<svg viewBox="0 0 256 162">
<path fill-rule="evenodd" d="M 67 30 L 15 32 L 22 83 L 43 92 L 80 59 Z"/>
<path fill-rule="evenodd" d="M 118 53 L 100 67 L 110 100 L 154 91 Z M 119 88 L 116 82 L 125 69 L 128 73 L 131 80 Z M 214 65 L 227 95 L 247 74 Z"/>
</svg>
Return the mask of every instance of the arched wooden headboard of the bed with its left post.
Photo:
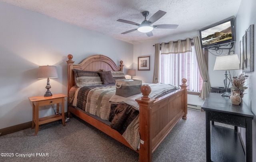
<svg viewBox="0 0 256 162">
<path fill-rule="evenodd" d="M 120 66 L 116 66 L 114 61 L 104 55 L 92 55 L 84 59 L 80 64 L 74 64 L 72 61 L 73 55 L 68 55 L 68 93 L 72 86 L 75 86 L 75 78 L 73 69 L 84 71 L 122 71 L 123 61 L 120 61 Z"/>
</svg>

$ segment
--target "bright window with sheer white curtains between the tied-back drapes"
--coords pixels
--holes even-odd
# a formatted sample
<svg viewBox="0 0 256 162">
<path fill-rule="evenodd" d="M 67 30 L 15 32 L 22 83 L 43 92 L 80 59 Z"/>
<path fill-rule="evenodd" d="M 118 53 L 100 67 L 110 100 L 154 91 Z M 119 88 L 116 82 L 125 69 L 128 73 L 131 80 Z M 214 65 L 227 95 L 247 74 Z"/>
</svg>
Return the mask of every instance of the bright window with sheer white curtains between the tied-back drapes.
<svg viewBox="0 0 256 162">
<path fill-rule="evenodd" d="M 198 70 L 194 46 L 192 52 L 160 55 L 159 78 L 160 83 L 175 86 L 182 84 L 182 78 L 186 78 L 188 91 L 201 92 L 203 80 Z"/>
</svg>

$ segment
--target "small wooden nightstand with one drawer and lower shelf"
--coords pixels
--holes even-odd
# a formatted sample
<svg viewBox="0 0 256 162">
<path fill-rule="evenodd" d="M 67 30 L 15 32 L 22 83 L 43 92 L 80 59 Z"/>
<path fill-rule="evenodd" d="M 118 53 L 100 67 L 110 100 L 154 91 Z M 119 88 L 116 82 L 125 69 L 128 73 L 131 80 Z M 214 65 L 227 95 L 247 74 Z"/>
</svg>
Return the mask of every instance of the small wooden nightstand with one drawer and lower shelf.
<svg viewBox="0 0 256 162">
<path fill-rule="evenodd" d="M 52 96 L 35 96 L 29 97 L 28 99 L 33 102 L 33 119 L 32 119 L 32 129 L 36 126 L 35 136 L 38 133 L 39 125 L 49 123 L 56 120 L 62 120 L 62 125 L 65 126 L 65 117 L 64 117 L 64 101 L 65 97 L 68 97 L 64 94 L 53 94 Z M 39 107 L 57 104 L 57 112 L 60 112 L 60 103 L 61 103 L 61 114 L 54 114 L 47 117 L 39 118 Z"/>
</svg>

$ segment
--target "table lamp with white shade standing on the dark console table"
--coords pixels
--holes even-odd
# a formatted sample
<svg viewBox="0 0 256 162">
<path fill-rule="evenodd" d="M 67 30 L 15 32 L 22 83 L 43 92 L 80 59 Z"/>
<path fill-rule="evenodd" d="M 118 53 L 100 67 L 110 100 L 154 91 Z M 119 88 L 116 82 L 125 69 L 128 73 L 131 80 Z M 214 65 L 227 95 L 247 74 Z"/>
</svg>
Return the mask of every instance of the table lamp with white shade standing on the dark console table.
<svg viewBox="0 0 256 162">
<path fill-rule="evenodd" d="M 238 55 L 223 55 L 216 57 L 213 70 L 225 70 L 224 86 L 226 92 L 222 93 L 221 96 L 229 97 L 230 93 L 228 92 L 228 87 L 230 84 L 230 79 L 228 78 L 227 70 L 238 70 L 240 69 L 240 61 Z"/>
</svg>

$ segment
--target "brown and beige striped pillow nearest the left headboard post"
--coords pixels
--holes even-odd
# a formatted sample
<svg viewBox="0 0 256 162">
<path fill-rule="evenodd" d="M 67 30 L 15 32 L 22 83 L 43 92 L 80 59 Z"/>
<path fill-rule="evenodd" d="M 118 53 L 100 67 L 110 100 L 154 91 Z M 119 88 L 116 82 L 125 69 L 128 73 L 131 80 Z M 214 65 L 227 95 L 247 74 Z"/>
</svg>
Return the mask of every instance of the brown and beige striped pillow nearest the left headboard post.
<svg viewBox="0 0 256 162">
<path fill-rule="evenodd" d="M 76 77 L 76 86 L 87 86 L 93 84 L 102 84 L 100 76 L 96 71 L 83 71 L 83 70 L 74 70 Z"/>
</svg>

